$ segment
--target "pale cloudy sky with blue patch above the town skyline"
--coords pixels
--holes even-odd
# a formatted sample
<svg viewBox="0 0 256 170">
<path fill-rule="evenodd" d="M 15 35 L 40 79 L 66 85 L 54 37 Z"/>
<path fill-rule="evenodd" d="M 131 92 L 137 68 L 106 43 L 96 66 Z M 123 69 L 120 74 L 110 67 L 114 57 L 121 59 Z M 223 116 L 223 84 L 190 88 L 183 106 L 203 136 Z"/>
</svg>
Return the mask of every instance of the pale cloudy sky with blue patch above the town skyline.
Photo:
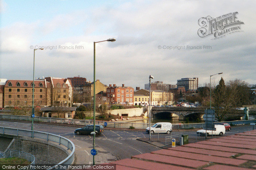
<svg viewBox="0 0 256 170">
<path fill-rule="evenodd" d="M 144 88 L 153 75 L 166 84 L 198 77 L 203 86 L 218 72 L 213 81 L 256 84 L 255 9 L 255 0 L 1 0 L 0 78 L 32 80 L 33 49 L 44 47 L 35 51 L 35 77 L 93 81 L 93 42 L 115 38 L 96 43 L 103 84 Z M 239 32 L 198 36 L 201 17 L 233 12 Z"/>
</svg>

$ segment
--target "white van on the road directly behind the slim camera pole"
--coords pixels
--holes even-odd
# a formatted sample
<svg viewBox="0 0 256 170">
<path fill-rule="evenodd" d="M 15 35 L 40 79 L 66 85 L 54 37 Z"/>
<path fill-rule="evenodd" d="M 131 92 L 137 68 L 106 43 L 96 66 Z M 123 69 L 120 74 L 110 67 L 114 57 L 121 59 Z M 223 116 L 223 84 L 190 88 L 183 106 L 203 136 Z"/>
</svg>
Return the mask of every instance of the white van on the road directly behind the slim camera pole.
<svg viewBox="0 0 256 170">
<path fill-rule="evenodd" d="M 150 128 L 152 133 L 167 133 L 172 132 L 172 124 L 170 122 L 158 122 Z M 149 127 L 146 128 L 146 133 L 149 133 Z"/>
</svg>

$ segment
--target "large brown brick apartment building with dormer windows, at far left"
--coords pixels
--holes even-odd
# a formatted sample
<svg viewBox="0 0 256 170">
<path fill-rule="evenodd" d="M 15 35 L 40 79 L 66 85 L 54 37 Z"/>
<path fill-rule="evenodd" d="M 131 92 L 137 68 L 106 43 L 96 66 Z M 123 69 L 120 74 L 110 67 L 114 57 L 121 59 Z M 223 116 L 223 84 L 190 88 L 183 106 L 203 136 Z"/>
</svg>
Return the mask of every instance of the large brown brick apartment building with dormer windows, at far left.
<svg viewBox="0 0 256 170">
<path fill-rule="evenodd" d="M 65 78 L 48 77 L 34 81 L 35 106 L 71 106 L 72 93 L 72 86 Z M 3 95 L 3 107 L 32 106 L 33 81 L 7 80 L 0 94 Z"/>
</svg>

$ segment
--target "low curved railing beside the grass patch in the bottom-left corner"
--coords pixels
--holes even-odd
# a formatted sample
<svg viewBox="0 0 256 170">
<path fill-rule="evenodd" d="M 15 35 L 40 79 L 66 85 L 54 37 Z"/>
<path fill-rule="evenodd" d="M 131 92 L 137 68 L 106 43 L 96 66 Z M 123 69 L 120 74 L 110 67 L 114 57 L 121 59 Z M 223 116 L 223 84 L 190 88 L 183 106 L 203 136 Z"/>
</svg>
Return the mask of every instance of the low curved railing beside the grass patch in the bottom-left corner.
<svg viewBox="0 0 256 170">
<path fill-rule="evenodd" d="M 5 153 L 2 153 L 0 155 L 0 158 L 13 158 L 13 157 L 23 158 L 31 162 L 29 165 L 26 165 L 26 170 L 30 170 L 30 165 L 35 164 L 35 156 L 26 152 L 17 151 L 17 150 L 7 150 Z M 20 170 L 23 170 L 23 169 L 20 169 Z"/>
</svg>

